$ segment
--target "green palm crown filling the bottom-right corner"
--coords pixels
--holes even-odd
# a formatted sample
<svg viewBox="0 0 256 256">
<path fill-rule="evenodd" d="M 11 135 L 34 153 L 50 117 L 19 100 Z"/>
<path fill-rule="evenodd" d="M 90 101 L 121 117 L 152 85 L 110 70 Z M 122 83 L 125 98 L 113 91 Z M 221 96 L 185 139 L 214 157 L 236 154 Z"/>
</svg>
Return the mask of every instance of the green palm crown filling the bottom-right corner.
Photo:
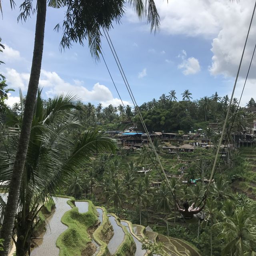
<svg viewBox="0 0 256 256">
<path fill-rule="evenodd" d="M 256 253 L 256 230 L 252 223 L 251 214 L 240 208 L 232 217 L 225 217 L 224 222 L 214 226 L 222 227 L 218 238 L 225 239 L 226 245 L 222 255 L 230 256 L 255 255 Z"/>
</svg>

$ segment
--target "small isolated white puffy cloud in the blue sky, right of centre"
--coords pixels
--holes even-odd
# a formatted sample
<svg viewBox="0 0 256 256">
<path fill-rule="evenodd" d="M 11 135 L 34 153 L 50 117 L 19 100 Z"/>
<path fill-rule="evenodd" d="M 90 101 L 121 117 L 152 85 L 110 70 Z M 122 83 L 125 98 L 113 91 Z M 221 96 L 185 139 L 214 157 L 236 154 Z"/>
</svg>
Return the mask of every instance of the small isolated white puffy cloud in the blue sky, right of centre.
<svg viewBox="0 0 256 256">
<path fill-rule="evenodd" d="M 198 59 L 194 57 L 186 57 L 186 51 L 182 50 L 182 53 L 178 55 L 178 58 L 182 59 L 182 63 L 178 65 L 178 69 L 182 69 L 182 73 L 185 76 L 198 73 L 201 70 Z"/>
</svg>

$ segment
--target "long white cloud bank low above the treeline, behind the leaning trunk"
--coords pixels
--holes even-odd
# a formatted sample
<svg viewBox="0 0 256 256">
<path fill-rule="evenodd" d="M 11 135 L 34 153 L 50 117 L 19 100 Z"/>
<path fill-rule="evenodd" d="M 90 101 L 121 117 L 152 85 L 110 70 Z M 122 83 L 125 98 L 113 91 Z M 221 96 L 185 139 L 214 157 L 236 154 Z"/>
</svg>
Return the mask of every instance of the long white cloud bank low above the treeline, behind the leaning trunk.
<svg viewBox="0 0 256 256">
<path fill-rule="evenodd" d="M 8 74 L 8 85 L 10 88 L 20 87 L 26 90 L 29 74 L 18 73 L 14 69 L 6 69 Z M 6 76 L 7 76 L 6 74 Z M 112 104 L 118 106 L 120 100 L 114 98 L 109 88 L 103 84 L 96 83 L 91 90 L 87 89 L 83 81 L 73 80 L 72 83 L 64 81 L 56 72 L 41 70 L 39 86 L 44 87 L 44 93 L 48 98 L 54 97 L 56 94 L 72 93 L 78 95 L 84 102 L 100 102 L 103 106 Z M 13 104 L 17 97 L 10 96 L 8 102 Z M 9 103 L 8 103 L 9 104 Z M 124 104 L 130 104 L 124 101 Z"/>
</svg>

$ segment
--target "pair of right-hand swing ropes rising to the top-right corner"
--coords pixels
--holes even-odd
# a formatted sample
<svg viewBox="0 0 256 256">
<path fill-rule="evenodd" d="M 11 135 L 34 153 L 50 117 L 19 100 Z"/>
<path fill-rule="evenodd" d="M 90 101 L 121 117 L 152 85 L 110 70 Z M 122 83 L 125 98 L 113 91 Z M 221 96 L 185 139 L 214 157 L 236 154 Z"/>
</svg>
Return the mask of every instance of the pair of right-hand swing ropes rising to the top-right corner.
<svg viewBox="0 0 256 256">
<path fill-rule="evenodd" d="M 227 110 L 226 118 L 225 118 L 224 125 L 223 125 L 223 128 L 222 128 L 222 133 L 221 133 L 221 136 L 220 136 L 220 140 L 219 140 L 219 144 L 218 144 L 216 156 L 215 156 L 215 159 L 214 159 L 214 164 L 213 164 L 213 166 L 212 166 L 212 172 L 211 172 L 211 176 L 210 176 L 210 182 L 209 182 L 209 184 L 208 184 L 208 186 L 207 186 L 207 188 L 206 188 L 206 192 L 204 193 L 204 197 L 202 198 L 200 204 L 202 204 L 203 200 L 204 200 L 204 199 L 206 198 L 206 196 L 207 196 L 208 190 L 209 190 L 209 188 L 210 188 L 210 184 L 211 184 L 211 182 L 212 182 L 212 179 L 213 179 L 214 174 L 215 174 L 215 172 L 216 172 L 216 170 L 217 170 L 217 168 L 218 168 L 218 164 L 220 163 L 220 159 L 221 159 L 222 154 L 223 154 L 223 152 L 224 152 L 224 149 L 225 149 L 225 147 L 226 147 L 227 140 L 226 140 L 226 142 L 225 142 L 225 146 L 224 146 L 224 148 L 223 148 L 223 150 L 222 150 L 222 153 L 221 153 L 221 155 L 220 155 L 220 159 L 219 159 L 218 164 L 217 164 L 217 166 L 216 166 L 218 154 L 219 154 L 219 152 L 220 152 L 220 146 L 221 146 L 221 143 L 222 143 L 222 140 L 223 140 L 224 131 L 225 131 L 225 129 L 226 129 L 226 124 L 227 124 L 227 121 L 228 121 L 228 114 L 229 114 L 229 112 L 230 112 L 230 107 L 231 107 L 231 105 L 232 105 L 232 99 L 233 99 L 233 96 L 234 96 L 234 92 L 235 92 L 235 89 L 236 89 L 236 83 L 237 83 L 237 80 L 238 80 L 238 76 L 239 76 L 239 73 L 240 73 L 240 68 L 241 68 L 242 60 L 243 60 L 243 57 L 244 57 L 244 51 L 245 51 L 245 48 L 246 48 L 248 36 L 249 36 L 250 29 L 251 29 L 251 26 L 252 26 L 252 20 L 253 20 L 253 18 L 254 18 L 255 9 L 256 9 L 256 2 L 255 2 L 255 4 L 254 4 L 254 9 L 253 9 L 253 12 L 252 12 L 252 18 L 251 18 L 251 20 L 250 20 L 250 25 L 249 25 L 248 32 L 247 32 L 247 36 L 246 36 L 246 40 L 245 40 L 245 43 L 244 43 L 244 49 L 243 49 L 242 56 L 241 56 L 241 59 L 240 59 L 240 63 L 239 63 L 239 66 L 238 66 L 238 71 L 237 71 L 237 74 L 236 74 L 236 80 L 235 80 L 235 83 L 234 83 L 232 95 L 231 95 L 230 102 L 229 102 L 229 105 L 228 105 L 228 110 Z M 255 48 L 254 48 L 254 52 L 255 52 Z M 254 52 L 253 52 L 252 58 L 253 58 L 253 56 L 254 56 Z M 248 69 L 248 73 L 247 73 L 247 76 L 246 76 L 246 80 L 245 80 L 245 82 L 244 82 L 244 86 L 245 86 L 246 81 L 247 81 L 247 77 L 248 77 L 248 74 L 249 74 L 249 71 L 250 71 L 251 64 L 252 64 L 252 59 L 251 59 L 251 62 L 250 62 L 250 66 L 249 66 L 249 69 Z M 243 88 L 243 90 L 242 90 L 242 94 L 243 94 L 243 92 L 244 92 L 244 88 Z M 240 101 L 241 101 L 241 98 L 242 98 L 242 94 L 241 94 L 241 97 L 240 97 Z M 240 101 L 239 101 L 239 104 L 240 104 Z M 239 104 L 238 104 L 238 106 L 239 106 Z M 237 113 L 237 111 L 238 111 L 238 107 L 237 107 L 237 109 L 236 109 L 236 113 Z M 235 114 L 235 116 L 234 116 L 234 119 L 235 119 L 235 117 L 236 117 L 236 114 Z M 232 126 L 233 126 L 233 124 L 234 124 L 234 119 L 233 119 L 233 122 L 232 122 Z M 229 131 L 229 133 L 228 133 L 228 136 L 230 135 L 232 126 L 231 126 L 231 128 L 230 128 L 230 131 Z M 199 204 L 199 205 L 200 205 L 200 204 Z"/>
</svg>

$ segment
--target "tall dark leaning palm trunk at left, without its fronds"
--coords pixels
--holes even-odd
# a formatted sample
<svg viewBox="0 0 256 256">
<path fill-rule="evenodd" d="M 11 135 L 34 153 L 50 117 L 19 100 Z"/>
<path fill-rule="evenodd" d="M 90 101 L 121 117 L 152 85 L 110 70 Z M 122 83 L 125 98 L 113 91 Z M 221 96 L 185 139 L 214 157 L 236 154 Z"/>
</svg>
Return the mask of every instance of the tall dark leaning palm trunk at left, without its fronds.
<svg viewBox="0 0 256 256">
<path fill-rule="evenodd" d="M 20 184 L 22 179 L 22 172 L 26 160 L 28 150 L 28 142 L 30 139 L 32 118 L 34 113 L 34 104 L 36 102 L 36 94 L 38 90 L 38 83 L 40 78 L 42 54 L 44 47 L 44 27 L 46 20 L 46 0 L 38 0 L 38 10 L 36 16 L 36 32 L 34 41 L 34 52 L 30 73 L 30 80 L 28 83 L 28 92 L 26 96 L 26 104 L 23 115 L 22 128 L 20 133 L 20 140 L 18 150 L 12 172 L 12 179 L 10 181 L 8 200 L 4 214 L 4 220 L 1 230 L 1 238 L 4 239 L 4 250 L 0 252 L 1 256 L 7 256 L 9 244 L 12 237 L 12 229 L 14 226 L 14 218 L 18 204 Z"/>
</svg>

